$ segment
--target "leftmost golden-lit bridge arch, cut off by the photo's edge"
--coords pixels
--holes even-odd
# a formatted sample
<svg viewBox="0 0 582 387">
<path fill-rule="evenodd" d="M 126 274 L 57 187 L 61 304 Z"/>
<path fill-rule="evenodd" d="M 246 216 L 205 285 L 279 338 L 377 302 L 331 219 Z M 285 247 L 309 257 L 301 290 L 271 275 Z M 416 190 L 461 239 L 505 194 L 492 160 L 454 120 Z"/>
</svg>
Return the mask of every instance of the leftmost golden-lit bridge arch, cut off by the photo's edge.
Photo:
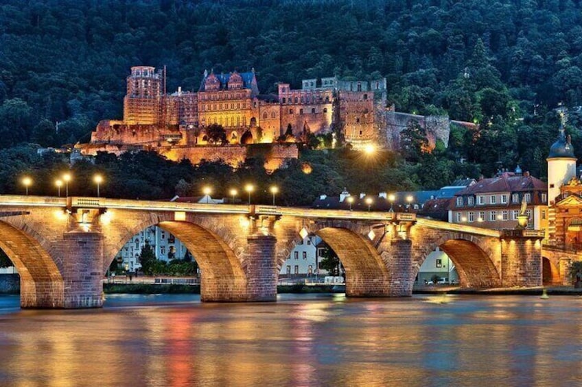
<svg viewBox="0 0 582 387">
<path fill-rule="evenodd" d="M 0 249 L 19 271 L 22 308 L 64 308 L 65 286 L 60 270 L 32 229 L 0 221 Z M 35 234 L 34 236 L 32 234 Z"/>
</svg>

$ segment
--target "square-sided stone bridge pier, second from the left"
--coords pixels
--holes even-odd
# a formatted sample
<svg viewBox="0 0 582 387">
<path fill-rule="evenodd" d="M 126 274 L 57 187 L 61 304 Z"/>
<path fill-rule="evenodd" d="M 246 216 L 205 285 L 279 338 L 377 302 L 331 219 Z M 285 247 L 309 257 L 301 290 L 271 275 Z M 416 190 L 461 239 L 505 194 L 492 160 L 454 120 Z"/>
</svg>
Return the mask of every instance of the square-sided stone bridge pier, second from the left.
<svg viewBox="0 0 582 387">
<path fill-rule="evenodd" d="M 246 301 L 277 301 L 277 238 L 254 234 L 247 242 Z"/>
</svg>

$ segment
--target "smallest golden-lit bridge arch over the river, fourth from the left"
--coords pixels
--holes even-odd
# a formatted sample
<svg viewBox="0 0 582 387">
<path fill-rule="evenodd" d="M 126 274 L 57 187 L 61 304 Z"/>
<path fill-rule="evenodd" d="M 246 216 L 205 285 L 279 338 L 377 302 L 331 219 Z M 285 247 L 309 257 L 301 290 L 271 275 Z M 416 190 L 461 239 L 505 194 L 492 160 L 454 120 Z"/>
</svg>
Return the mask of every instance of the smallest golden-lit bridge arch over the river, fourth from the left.
<svg viewBox="0 0 582 387">
<path fill-rule="evenodd" d="M 423 231 L 421 233 L 426 235 Z M 461 286 L 476 288 L 501 286 L 495 262 L 499 254 L 494 251 L 494 246 L 484 239 L 462 232 L 438 232 L 432 235 L 432 240 L 421 245 L 423 249 L 414 259 L 414 277 L 428 255 L 439 247 L 454 263 Z"/>
</svg>

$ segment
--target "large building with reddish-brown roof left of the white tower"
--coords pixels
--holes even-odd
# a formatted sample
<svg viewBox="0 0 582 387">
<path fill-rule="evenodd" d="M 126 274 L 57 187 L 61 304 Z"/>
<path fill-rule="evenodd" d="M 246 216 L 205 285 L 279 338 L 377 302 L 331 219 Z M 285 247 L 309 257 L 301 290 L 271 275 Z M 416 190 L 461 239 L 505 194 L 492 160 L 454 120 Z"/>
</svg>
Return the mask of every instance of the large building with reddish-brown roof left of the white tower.
<svg viewBox="0 0 582 387">
<path fill-rule="evenodd" d="M 502 172 L 456 192 L 450 204 L 450 223 L 491 229 L 514 229 L 522 201 L 527 203 L 528 228 L 548 227 L 548 186 L 528 172 Z"/>
</svg>

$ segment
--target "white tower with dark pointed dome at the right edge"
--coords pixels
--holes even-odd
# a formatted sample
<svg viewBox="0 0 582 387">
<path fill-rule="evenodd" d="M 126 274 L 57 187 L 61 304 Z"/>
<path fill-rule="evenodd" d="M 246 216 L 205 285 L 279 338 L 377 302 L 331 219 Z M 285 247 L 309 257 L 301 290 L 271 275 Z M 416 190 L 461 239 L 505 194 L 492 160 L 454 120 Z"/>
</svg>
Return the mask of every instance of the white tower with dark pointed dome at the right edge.
<svg viewBox="0 0 582 387">
<path fill-rule="evenodd" d="M 576 157 L 570 136 L 566 137 L 563 125 L 556 142 L 550 147 L 548 161 L 548 205 L 553 205 L 560 195 L 560 187 L 576 176 Z"/>
</svg>

